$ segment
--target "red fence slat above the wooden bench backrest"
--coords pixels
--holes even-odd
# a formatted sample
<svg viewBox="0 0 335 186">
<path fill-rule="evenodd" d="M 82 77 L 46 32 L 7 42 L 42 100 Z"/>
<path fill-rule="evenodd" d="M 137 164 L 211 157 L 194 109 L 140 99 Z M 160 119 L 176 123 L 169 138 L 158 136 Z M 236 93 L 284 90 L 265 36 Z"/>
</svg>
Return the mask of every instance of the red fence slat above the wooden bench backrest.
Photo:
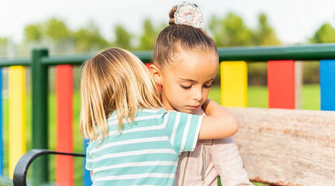
<svg viewBox="0 0 335 186">
<path fill-rule="evenodd" d="M 295 108 L 294 61 L 268 61 L 269 108 Z"/>
</svg>

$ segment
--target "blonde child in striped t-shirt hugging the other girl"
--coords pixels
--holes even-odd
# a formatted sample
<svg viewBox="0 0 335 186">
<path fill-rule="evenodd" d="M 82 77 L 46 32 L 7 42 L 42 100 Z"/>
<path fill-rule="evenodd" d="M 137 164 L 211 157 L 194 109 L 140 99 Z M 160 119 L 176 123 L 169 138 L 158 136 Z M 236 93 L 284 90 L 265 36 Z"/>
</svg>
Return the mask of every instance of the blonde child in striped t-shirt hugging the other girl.
<svg viewBox="0 0 335 186">
<path fill-rule="evenodd" d="M 235 118 L 208 104 L 215 116 L 163 108 L 145 65 L 130 52 L 111 48 L 83 64 L 80 132 L 89 139 L 86 169 L 93 185 L 174 185 L 180 153 L 197 139 L 238 130 Z"/>
</svg>

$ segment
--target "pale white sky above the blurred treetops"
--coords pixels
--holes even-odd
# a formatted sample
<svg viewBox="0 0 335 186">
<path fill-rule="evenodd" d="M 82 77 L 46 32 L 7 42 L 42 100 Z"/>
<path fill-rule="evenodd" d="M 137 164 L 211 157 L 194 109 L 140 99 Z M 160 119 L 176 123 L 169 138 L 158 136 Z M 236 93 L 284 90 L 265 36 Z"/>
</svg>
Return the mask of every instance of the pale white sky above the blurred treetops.
<svg viewBox="0 0 335 186">
<path fill-rule="evenodd" d="M 52 3 L 49 3 L 52 2 Z M 27 24 L 56 17 L 76 30 L 93 21 L 105 38 L 113 38 L 113 27 L 121 23 L 134 34 L 142 32 L 142 23 L 150 18 L 154 23 L 169 22 L 168 13 L 180 0 L 0 0 L 0 37 L 21 42 Z M 202 26 L 212 15 L 225 16 L 233 12 L 252 28 L 258 15 L 264 12 L 278 38 L 284 44 L 307 42 L 325 22 L 335 27 L 335 1 L 332 0 L 194 0 L 204 14 Z"/>
</svg>

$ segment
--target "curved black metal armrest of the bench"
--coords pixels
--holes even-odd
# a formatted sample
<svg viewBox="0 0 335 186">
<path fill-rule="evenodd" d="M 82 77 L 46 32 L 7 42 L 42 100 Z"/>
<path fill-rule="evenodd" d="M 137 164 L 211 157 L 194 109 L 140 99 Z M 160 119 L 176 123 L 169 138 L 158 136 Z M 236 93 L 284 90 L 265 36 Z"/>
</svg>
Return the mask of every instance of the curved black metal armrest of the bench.
<svg viewBox="0 0 335 186">
<path fill-rule="evenodd" d="M 31 162 L 34 161 L 37 157 L 48 154 L 59 154 L 59 155 L 69 155 L 69 156 L 81 156 L 85 157 L 83 153 L 65 153 L 52 151 L 48 149 L 32 149 L 25 153 L 17 162 L 14 169 L 13 184 L 14 186 L 26 186 L 26 176 L 27 170 Z"/>
</svg>

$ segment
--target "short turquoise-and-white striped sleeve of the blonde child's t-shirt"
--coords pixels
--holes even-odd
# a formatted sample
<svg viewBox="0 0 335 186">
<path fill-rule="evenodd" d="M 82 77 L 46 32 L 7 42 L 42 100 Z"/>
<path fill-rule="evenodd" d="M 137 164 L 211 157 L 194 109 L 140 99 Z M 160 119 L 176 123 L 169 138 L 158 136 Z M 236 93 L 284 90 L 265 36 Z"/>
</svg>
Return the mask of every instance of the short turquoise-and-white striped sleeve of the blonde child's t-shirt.
<svg viewBox="0 0 335 186">
<path fill-rule="evenodd" d="M 168 111 L 163 115 L 167 137 L 178 155 L 181 152 L 194 151 L 202 117 L 175 111 Z"/>
</svg>

